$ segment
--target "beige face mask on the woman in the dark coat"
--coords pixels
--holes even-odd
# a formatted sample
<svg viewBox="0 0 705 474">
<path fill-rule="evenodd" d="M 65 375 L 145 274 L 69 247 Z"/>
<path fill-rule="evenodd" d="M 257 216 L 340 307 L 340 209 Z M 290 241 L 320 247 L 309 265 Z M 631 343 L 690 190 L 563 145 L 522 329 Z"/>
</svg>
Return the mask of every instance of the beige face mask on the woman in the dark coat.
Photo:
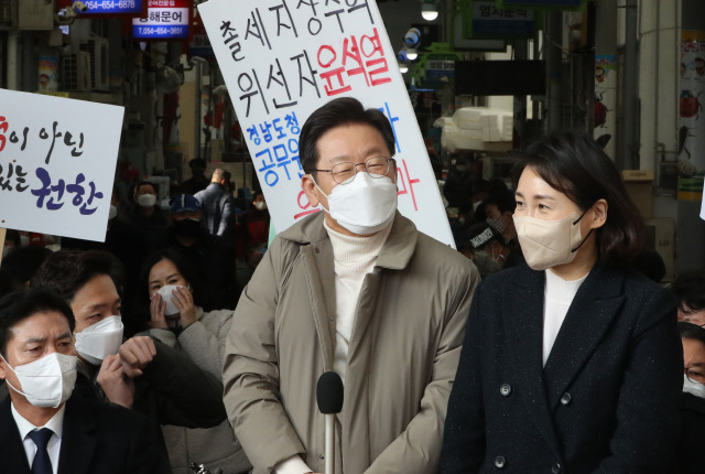
<svg viewBox="0 0 705 474">
<path fill-rule="evenodd" d="M 583 216 L 573 212 L 558 220 L 514 217 L 519 245 L 529 267 L 545 270 L 572 262 L 578 248 L 585 243 L 579 226 Z"/>
</svg>

